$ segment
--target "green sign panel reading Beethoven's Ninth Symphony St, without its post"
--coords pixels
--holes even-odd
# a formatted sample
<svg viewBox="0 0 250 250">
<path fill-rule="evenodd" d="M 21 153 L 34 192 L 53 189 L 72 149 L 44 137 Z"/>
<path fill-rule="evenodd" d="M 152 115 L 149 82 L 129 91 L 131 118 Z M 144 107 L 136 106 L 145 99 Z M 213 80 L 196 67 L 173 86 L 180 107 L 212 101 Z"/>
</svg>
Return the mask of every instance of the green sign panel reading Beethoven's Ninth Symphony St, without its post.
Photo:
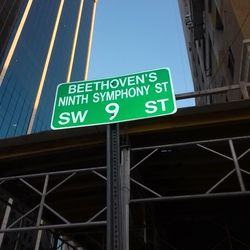
<svg viewBox="0 0 250 250">
<path fill-rule="evenodd" d="M 176 112 L 170 70 L 59 84 L 52 129 L 132 121 Z"/>
</svg>

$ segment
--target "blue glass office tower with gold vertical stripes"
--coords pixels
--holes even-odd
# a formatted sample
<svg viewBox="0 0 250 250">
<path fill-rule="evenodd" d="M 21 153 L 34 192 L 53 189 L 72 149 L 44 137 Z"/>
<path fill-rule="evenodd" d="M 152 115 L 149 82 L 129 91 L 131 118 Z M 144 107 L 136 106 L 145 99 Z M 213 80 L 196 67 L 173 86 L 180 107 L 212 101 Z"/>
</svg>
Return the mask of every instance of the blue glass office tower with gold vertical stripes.
<svg viewBox="0 0 250 250">
<path fill-rule="evenodd" d="M 85 79 L 96 0 L 0 0 L 0 138 L 50 129 L 56 86 Z"/>
</svg>

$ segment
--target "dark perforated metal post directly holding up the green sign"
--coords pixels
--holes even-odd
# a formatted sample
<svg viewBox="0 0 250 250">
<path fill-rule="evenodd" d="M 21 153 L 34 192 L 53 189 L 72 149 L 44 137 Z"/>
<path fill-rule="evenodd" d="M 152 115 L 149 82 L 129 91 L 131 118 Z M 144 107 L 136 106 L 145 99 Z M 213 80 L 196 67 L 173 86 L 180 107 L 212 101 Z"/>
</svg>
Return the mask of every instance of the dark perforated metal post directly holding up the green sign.
<svg viewBox="0 0 250 250">
<path fill-rule="evenodd" d="M 123 250 L 119 125 L 107 126 L 107 249 Z"/>
</svg>

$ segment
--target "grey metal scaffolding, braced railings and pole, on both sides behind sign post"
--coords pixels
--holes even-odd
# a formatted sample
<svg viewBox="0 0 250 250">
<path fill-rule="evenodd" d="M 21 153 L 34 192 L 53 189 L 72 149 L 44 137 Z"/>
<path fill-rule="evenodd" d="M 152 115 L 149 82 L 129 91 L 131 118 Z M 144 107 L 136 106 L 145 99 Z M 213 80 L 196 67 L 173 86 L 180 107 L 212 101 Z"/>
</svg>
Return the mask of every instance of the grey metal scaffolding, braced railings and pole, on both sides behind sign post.
<svg viewBox="0 0 250 250">
<path fill-rule="evenodd" d="M 241 143 L 244 142 L 244 144 L 248 145 L 248 148 L 244 149 L 241 153 L 237 153 L 235 149 L 235 143 Z M 219 139 L 212 139 L 212 140 L 199 140 L 199 141 L 189 141 L 189 142 L 183 142 L 183 143 L 172 143 L 172 144 L 162 144 L 162 145 L 152 145 L 147 147 L 136 147 L 136 148 L 130 148 L 126 146 L 125 148 L 121 149 L 121 165 L 117 163 L 117 171 L 115 176 L 113 178 L 116 178 L 115 181 L 118 181 L 118 186 L 116 188 L 110 187 L 108 192 L 111 192 L 111 189 L 116 192 L 119 190 L 118 193 L 115 193 L 114 195 L 118 195 L 117 197 L 113 197 L 116 199 L 120 199 L 120 209 L 117 213 L 112 213 L 108 216 L 108 223 L 110 226 L 114 227 L 114 231 L 112 233 L 112 237 L 114 239 L 110 240 L 110 242 L 116 241 L 116 245 L 110 247 L 109 249 L 129 249 L 129 204 L 132 206 L 134 204 L 140 203 L 140 204 L 146 204 L 146 203 L 155 203 L 155 202 L 173 202 L 178 200 L 202 200 L 202 199 L 219 199 L 222 197 L 249 197 L 250 191 L 247 189 L 247 185 L 244 181 L 243 175 L 250 175 L 250 172 L 248 169 L 244 169 L 243 166 L 241 166 L 241 161 L 247 155 L 249 155 L 250 152 L 250 136 L 241 136 L 241 137 L 230 137 L 230 138 L 219 138 Z M 223 144 L 225 148 L 228 148 L 228 152 L 230 154 L 226 154 L 224 152 L 220 152 L 216 149 L 217 144 Z M 215 146 L 215 148 L 211 147 L 210 145 Z M 147 183 L 142 183 L 139 180 L 136 180 L 134 177 L 130 177 L 132 173 L 139 168 L 143 171 L 143 166 L 145 163 L 149 162 L 152 157 L 159 152 L 160 150 L 163 150 L 164 152 L 172 152 L 172 150 L 178 149 L 178 148 L 184 148 L 185 147 L 192 147 L 192 148 L 199 148 L 202 149 L 209 154 L 212 154 L 218 158 L 222 158 L 223 160 L 227 161 L 229 164 L 228 171 L 226 174 L 220 177 L 219 180 L 217 180 L 214 183 L 211 183 L 211 186 L 205 190 L 203 193 L 197 193 L 197 194 L 188 194 L 188 195 L 166 195 L 163 193 L 160 193 L 158 190 L 154 190 L 154 188 L 150 187 Z M 145 151 L 147 154 L 140 159 L 138 162 L 131 164 L 130 160 L 130 154 L 132 157 L 134 155 L 138 154 L 139 152 Z M 117 153 L 117 152 L 116 152 Z M 119 153 L 118 153 L 119 155 Z M 119 157 L 117 158 L 118 161 Z M 206 159 L 204 159 L 206 160 Z M 121 167 L 119 167 L 121 166 Z M 129 170 L 130 169 L 130 170 Z M 39 232 L 39 230 L 62 230 L 67 228 L 90 228 L 90 227 L 96 227 L 96 226 L 106 226 L 106 221 L 99 221 L 95 220 L 100 214 L 103 214 L 107 211 L 107 207 L 104 206 L 103 209 L 101 209 L 99 212 L 97 212 L 95 215 L 93 215 L 91 218 L 85 221 L 78 221 L 78 222 L 71 222 L 67 218 L 65 218 L 63 215 L 61 215 L 58 211 L 53 209 L 51 206 L 46 204 L 46 198 L 48 195 L 50 195 L 52 192 L 54 192 L 57 189 L 60 189 L 67 181 L 69 181 L 72 178 L 75 178 L 78 175 L 81 175 L 83 173 L 92 173 L 98 177 L 100 177 L 103 180 L 107 180 L 105 173 L 103 171 L 106 171 L 106 166 L 100 166 L 100 167 L 89 167 L 89 168 L 82 168 L 82 169 L 72 169 L 72 170 L 63 170 L 63 171 L 53 171 L 53 172 L 41 172 L 36 174 L 26 174 L 26 175 L 18 175 L 18 176 L 7 176 L 0 178 L 0 183 L 6 184 L 9 181 L 19 181 L 24 186 L 28 187 L 32 192 L 34 192 L 38 197 L 40 197 L 40 202 L 35 205 L 33 208 L 30 208 L 29 211 L 21 215 L 19 218 L 17 218 L 14 222 L 11 224 L 8 224 L 6 228 L 2 228 L 0 230 L 0 233 L 10 233 L 10 232 L 20 232 L 20 231 L 32 231 L 35 230 Z M 111 174 L 111 173 L 110 173 Z M 53 176 L 59 176 L 64 175 L 63 180 L 61 180 L 59 183 L 54 185 L 53 187 L 48 188 L 48 184 L 50 181 L 50 178 Z M 66 177 L 65 177 L 66 175 Z M 237 179 L 238 182 L 238 188 L 239 190 L 231 191 L 231 192 L 216 192 L 216 189 L 222 185 L 229 177 L 234 177 Z M 30 180 L 33 178 L 42 178 L 43 179 L 43 188 L 42 191 L 38 190 L 34 185 L 30 184 Z M 109 184 L 114 185 L 114 180 L 111 180 Z M 148 197 L 144 198 L 132 198 L 130 199 L 130 195 L 133 193 L 133 189 L 130 191 L 130 185 L 133 184 L 134 186 L 139 187 L 140 189 L 143 189 L 145 193 L 151 194 Z M 111 194 L 111 193 L 110 193 Z M 113 201 L 110 201 L 110 198 L 108 198 L 109 204 L 113 204 Z M 6 201 L 8 206 L 12 206 L 12 204 L 9 204 L 8 201 Z M 111 208 L 108 204 L 108 211 L 111 212 Z M 44 209 L 49 210 L 55 217 L 57 217 L 61 223 L 60 224 L 50 224 L 49 221 L 46 220 L 46 218 L 43 217 Z M 115 209 L 114 207 L 112 209 Z M 30 214 L 37 211 L 37 217 L 35 220 L 35 225 L 33 226 L 26 226 L 26 227 L 20 227 L 19 222 L 24 219 L 25 217 L 28 217 Z M 118 224 L 114 223 L 111 216 L 115 216 L 114 218 L 116 220 L 119 220 L 117 222 Z M 17 226 L 18 225 L 18 226 Z M 108 229 L 108 237 L 111 235 L 112 230 Z M 117 244 L 122 244 L 118 247 Z"/>
</svg>

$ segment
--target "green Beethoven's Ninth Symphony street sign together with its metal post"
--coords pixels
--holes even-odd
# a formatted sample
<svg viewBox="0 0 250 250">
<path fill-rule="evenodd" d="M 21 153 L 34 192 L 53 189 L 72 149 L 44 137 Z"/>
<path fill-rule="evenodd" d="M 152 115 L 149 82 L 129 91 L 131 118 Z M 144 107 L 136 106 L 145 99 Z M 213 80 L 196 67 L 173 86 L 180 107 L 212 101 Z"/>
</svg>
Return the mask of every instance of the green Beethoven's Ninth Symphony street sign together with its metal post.
<svg viewBox="0 0 250 250">
<path fill-rule="evenodd" d="M 125 250 L 129 245 L 129 242 L 124 242 L 124 239 L 129 241 L 129 199 L 123 195 L 124 183 L 129 187 L 129 175 L 122 176 L 124 166 L 120 164 L 118 123 L 175 112 L 175 95 L 167 68 L 94 81 L 62 83 L 57 87 L 52 129 L 108 124 L 107 249 Z M 129 171 L 129 166 L 127 169 Z"/>
</svg>

